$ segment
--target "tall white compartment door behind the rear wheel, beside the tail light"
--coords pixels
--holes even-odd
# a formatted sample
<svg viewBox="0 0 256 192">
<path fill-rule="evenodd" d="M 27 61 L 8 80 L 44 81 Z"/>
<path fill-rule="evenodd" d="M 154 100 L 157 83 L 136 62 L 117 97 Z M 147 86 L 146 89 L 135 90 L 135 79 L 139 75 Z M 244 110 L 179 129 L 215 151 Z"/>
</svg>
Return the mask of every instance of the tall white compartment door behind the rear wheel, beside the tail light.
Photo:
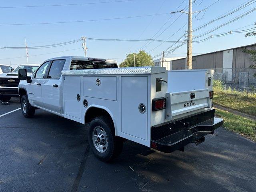
<svg viewBox="0 0 256 192">
<path fill-rule="evenodd" d="M 148 77 L 121 77 L 121 127 L 122 136 L 140 144 L 148 140 Z M 141 113 L 140 104 L 146 111 Z"/>
</svg>

